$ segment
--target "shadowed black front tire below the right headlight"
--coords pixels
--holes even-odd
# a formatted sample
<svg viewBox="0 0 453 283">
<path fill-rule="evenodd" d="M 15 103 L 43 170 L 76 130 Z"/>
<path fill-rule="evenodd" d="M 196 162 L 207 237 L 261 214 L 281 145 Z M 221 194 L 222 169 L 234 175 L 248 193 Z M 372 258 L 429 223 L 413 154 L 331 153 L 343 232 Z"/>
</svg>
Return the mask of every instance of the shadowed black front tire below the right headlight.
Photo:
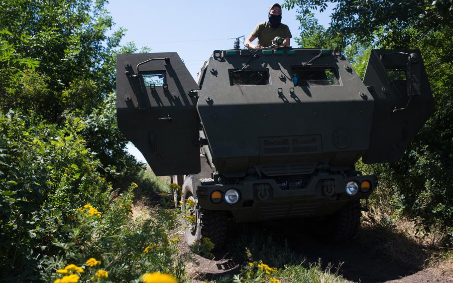
<svg viewBox="0 0 453 283">
<path fill-rule="evenodd" d="M 334 215 L 334 242 L 343 242 L 357 236 L 360 227 L 360 201 L 350 201 Z"/>
</svg>

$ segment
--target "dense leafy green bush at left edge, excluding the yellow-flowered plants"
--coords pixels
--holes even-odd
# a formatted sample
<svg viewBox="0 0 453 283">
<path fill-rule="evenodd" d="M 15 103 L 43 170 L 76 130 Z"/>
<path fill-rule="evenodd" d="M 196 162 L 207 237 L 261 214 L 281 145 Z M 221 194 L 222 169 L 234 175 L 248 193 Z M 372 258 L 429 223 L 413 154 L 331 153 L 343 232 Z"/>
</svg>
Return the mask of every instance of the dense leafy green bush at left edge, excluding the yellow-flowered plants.
<svg viewBox="0 0 453 283">
<path fill-rule="evenodd" d="M 79 135 L 84 127 L 78 118 L 58 129 L 21 114 L 0 114 L 2 276 L 35 276 L 39 258 L 55 252 L 52 238 L 65 235 L 63 223 L 79 203 L 107 209 L 110 185 Z"/>
</svg>

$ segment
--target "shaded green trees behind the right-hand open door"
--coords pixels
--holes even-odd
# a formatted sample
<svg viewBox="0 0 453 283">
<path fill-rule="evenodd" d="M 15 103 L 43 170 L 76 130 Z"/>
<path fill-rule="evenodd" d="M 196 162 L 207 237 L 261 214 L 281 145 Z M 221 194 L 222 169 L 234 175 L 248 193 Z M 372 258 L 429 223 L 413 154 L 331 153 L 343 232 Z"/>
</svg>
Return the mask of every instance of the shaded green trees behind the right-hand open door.
<svg viewBox="0 0 453 283">
<path fill-rule="evenodd" d="M 331 1 L 329 1 L 331 2 Z M 371 48 L 420 49 L 427 70 L 435 111 L 399 162 L 364 166 L 380 175 L 388 193 L 384 203 L 413 219 L 419 232 L 453 237 L 453 3 L 437 1 L 336 0 L 330 27 L 310 21 L 312 10 L 325 9 L 325 0 L 286 0 L 298 7 L 307 45 L 337 41 L 357 74 L 363 77 Z M 314 30 L 315 32 L 310 33 Z M 320 39 L 321 38 L 321 39 Z M 449 241 L 451 243 L 451 241 Z"/>
</svg>

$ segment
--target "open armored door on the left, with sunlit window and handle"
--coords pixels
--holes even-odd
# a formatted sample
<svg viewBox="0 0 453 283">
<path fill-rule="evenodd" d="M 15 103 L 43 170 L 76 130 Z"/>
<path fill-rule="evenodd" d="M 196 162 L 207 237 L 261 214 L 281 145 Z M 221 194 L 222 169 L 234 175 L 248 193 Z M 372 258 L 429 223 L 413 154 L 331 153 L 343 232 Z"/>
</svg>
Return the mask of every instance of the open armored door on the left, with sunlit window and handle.
<svg viewBox="0 0 453 283">
<path fill-rule="evenodd" d="M 118 128 L 158 176 L 200 171 L 196 89 L 176 52 L 116 57 Z"/>
</svg>

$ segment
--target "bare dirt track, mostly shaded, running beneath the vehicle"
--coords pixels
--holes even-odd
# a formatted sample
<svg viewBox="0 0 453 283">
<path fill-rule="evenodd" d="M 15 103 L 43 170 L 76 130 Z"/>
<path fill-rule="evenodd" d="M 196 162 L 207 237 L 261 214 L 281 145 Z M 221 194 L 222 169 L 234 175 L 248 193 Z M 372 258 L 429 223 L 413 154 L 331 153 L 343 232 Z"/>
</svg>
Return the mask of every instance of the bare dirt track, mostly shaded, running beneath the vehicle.
<svg viewBox="0 0 453 283">
<path fill-rule="evenodd" d="M 253 226 L 253 229 L 261 229 L 276 240 L 286 239 L 289 249 L 301 258 L 306 258 L 306 261 L 316 263 L 321 260 L 323 267 L 331 263 L 334 266 L 332 272 L 338 272 L 350 282 L 453 283 L 452 278 L 439 275 L 435 269 L 423 270 L 421 260 L 389 259 L 388 255 L 381 256 L 376 253 L 376 249 L 363 243 L 352 241 L 344 245 L 327 244 L 325 240 L 310 236 L 307 232 L 294 227 L 288 228 L 290 226 L 283 222 Z M 238 260 L 234 256 L 228 256 L 226 252 L 217 255 L 218 258 L 223 258 L 220 261 L 196 257 L 200 265 L 193 266 L 190 271 L 196 279 L 214 280 L 219 276 L 238 272 Z M 335 267 L 339 267 L 338 271 Z"/>
</svg>

